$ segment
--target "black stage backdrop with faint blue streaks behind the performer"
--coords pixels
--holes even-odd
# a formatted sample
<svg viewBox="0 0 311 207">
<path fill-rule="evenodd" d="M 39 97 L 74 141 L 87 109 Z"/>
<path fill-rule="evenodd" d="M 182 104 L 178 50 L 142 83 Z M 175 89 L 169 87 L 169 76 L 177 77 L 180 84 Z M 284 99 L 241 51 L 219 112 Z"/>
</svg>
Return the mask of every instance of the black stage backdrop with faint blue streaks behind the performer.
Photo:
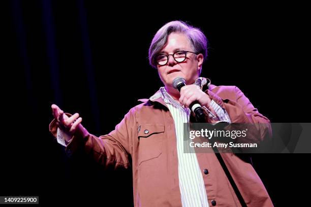
<svg viewBox="0 0 311 207">
<path fill-rule="evenodd" d="M 148 47 L 166 22 L 206 34 L 203 77 L 236 85 L 271 122 L 309 122 L 309 27 L 303 5 L 8 1 L 2 63 L 0 195 L 40 203 L 132 205 L 131 170 L 103 171 L 72 159 L 48 131 L 51 104 L 78 112 L 89 132 L 114 129 L 137 99 L 162 86 Z M 307 200 L 309 154 L 255 154 L 254 168 L 275 206 Z"/>
</svg>

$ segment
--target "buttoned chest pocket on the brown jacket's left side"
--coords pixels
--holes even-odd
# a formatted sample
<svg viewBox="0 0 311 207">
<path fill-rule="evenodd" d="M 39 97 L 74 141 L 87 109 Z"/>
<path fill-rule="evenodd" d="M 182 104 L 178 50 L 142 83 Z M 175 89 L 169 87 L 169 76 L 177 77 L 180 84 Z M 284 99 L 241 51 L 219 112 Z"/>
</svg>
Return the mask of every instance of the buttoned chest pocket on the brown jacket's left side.
<svg viewBox="0 0 311 207">
<path fill-rule="evenodd" d="M 138 162 L 140 165 L 142 162 L 157 158 L 161 155 L 164 125 L 142 124 L 138 130 Z"/>
</svg>

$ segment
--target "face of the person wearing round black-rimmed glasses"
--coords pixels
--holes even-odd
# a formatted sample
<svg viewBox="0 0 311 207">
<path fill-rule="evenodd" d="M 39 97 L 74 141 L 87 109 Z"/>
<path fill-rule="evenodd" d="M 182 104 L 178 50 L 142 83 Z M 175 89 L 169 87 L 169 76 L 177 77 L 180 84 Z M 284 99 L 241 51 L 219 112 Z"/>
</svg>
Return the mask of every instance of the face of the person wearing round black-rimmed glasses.
<svg viewBox="0 0 311 207">
<path fill-rule="evenodd" d="M 178 50 L 194 52 L 189 38 L 182 33 L 171 33 L 162 50 L 159 53 L 173 54 Z M 175 78 L 184 78 L 186 84 L 192 84 L 199 77 L 200 68 L 203 63 L 202 54 L 187 53 L 183 62 L 177 62 L 172 55 L 165 65 L 159 65 L 158 73 L 166 87 L 172 87 Z"/>
</svg>

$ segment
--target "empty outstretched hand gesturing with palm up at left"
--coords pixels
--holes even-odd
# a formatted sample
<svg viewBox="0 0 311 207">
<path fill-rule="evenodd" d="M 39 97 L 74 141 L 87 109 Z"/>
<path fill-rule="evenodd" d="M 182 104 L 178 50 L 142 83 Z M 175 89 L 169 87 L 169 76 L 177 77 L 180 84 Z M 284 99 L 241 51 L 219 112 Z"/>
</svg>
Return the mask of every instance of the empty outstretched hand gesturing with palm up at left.
<svg viewBox="0 0 311 207">
<path fill-rule="evenodd" d="M 56 119 L 56 124 L 62 130 L 65 130 L 67 133 L 73 135 L 78 128 L 80 128 L 80 123 L 82 122 L 82 118 L 79 117 L 78 113 L 75 113 L 71 117 L 68 117 L 64 114 L 63 110 L 60 110 L 59 107 L 55 104 L 52 106 L 52 114 Z"/>
</svg>

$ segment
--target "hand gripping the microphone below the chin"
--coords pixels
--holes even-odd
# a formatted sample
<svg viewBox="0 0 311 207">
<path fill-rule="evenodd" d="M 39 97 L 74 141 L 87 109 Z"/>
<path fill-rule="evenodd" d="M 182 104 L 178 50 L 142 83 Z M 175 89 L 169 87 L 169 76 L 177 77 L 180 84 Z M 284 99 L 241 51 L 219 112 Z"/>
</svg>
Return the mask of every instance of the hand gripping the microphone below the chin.
<svg viewBox="0 0 311 207">
<path fill-rule="evenodd" d="M 203 107 L 209 107 L 211 102 L 210 97 L 204 93 L 199 86 L 197 85 L 186 85 L 180 89 L 180 98 L 179 102 L 181 105 L 188 107 L 194 101 L 199 101 L 200 105 Z"/>
</svg>

